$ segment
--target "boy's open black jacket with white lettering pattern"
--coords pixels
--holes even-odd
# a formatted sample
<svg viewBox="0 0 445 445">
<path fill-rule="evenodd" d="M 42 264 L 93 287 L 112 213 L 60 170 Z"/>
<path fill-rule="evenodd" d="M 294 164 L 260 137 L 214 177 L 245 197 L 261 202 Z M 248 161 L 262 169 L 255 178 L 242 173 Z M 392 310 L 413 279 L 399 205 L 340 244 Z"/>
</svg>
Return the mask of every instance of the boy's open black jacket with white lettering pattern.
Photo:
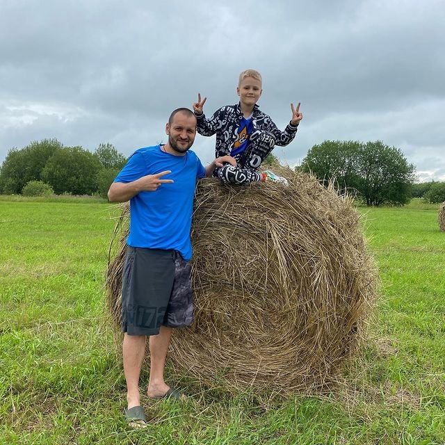
<svg viewBox="0 0 445 445">
<path fill-rule="evenodd" d="M 202 136 L 213 136 L 216 133 L 215 156 L 230 154 L 237 137 L 240 121 L 243 113 L 239 104 L 227 105 L 219 108 L 207 119 L 204 113 L 197 115 L 197 132 Z M 257 104 L 254 105 L 252 114 L 253 129 L 268 131 L 275 138 L 275 145 L 284 147 L 293 141 L 298 130 L 298 125 L 287 124 L 284 131 L 280 131 L 270 116 L 263 113 Z"/>
</svg>

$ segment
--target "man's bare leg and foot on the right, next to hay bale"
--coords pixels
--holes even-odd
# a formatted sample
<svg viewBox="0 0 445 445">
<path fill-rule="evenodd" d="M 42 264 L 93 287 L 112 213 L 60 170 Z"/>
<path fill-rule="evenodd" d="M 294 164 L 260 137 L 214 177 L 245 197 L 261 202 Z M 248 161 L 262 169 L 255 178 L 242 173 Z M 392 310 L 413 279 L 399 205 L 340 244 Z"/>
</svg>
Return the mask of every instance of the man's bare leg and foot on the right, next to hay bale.
<svg viewBox="0 0 445 445">
<path fill-rule="evenodd" d="M 149 397 L 161 397 L 170 389 L 164 382 L 164 366 L 171 338 L 172 328 L 165 326 L 161 326 L 158 335 L 150 335 L 150 378 L 147 388 Z"/>
</svg>

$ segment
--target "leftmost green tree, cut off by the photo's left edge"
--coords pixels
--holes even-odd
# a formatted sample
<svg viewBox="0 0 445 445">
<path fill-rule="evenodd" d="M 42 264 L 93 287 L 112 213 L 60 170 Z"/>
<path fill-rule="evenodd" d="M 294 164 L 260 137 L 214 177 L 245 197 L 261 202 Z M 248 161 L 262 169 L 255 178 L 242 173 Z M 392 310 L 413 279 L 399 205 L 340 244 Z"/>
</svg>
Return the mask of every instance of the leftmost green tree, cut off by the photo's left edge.
<svg viewBox="0 0 445 445">
<path fill-rule="evenodd" d="M 43 139 L 22 149 L 10 149 L 1 165 L 0 193 L 20 193 L 29 181 L 40 181 L 44 165 L 62 147 L 57 139 Z"/>
</svg>

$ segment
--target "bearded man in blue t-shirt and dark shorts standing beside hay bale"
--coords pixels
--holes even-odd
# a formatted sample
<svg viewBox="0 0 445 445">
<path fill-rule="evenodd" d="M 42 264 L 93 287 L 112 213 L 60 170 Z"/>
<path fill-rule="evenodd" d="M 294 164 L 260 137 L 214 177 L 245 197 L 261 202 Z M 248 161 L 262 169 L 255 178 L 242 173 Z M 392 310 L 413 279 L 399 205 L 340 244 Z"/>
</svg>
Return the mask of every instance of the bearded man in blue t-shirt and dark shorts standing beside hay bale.
<svg viewBox="0 0 445 445">
<path fill-rule="evenodd" d="M 206 168 L 192 152 L 196 118 L 177 108 L 165 126 L 168 143 L 140 148 L 115 178 L 108 199 L 130 200 L 130 232 L 122 275 L 122 355 L 127 380 L 127 421 L 147 426 L 140 406 L 139 375 L 149 337 L 150 398 L 184 398 L 164 382 L 164 365 L 173 327 L 193 321 L 190 239 L 196 179 L 211 177 L 230 156 Z M 236 165 L 236 163 L 235 163 Z"/>
</svg>

